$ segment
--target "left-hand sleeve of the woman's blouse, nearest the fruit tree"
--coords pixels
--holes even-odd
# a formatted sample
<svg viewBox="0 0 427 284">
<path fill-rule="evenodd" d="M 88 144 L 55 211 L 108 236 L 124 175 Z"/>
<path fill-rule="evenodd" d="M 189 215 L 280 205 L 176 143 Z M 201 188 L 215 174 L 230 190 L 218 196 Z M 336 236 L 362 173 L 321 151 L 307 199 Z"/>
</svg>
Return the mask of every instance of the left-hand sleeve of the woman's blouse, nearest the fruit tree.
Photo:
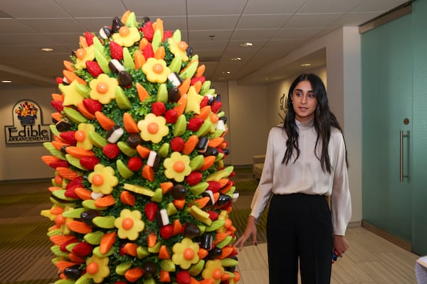
<svg viewBox="0 0 427 284">
<path fill-rule="evenodd" d="M 268 134 L 263 173 L 261 173 L 260 182 L 258 183 L 251 203 L 251 216 L 255 217 L 257 220 L 261 214 L 263 214 L 265 207 L 267 207 L 273 188 L 273 131 L 274 129 L 270 130 Z"/>
</svg>

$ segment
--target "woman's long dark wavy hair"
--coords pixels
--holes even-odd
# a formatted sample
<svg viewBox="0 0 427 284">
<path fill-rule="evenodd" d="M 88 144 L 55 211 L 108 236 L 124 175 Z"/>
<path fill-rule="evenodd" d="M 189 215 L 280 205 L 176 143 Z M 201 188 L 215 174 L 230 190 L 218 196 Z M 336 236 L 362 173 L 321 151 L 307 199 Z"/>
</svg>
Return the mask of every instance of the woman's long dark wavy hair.
<svg viewBox="0 0 427 284">
<path fill-rule="evenodd" d="M 320 77 L 318 77 L 315 74 L 301 74 L 298 76 L 294 82 L 290 85 L 289 92 L 288 92 L 288 102 L 286 104 L 287 112 L 285 116 L 285 121 L 283 122 L 283 129 L 285 129 L 286 134 L 288 135 L 288 140 L 286 141 L 286 152 L 285 156 L 283 157 L 282 163 L 285 163 L 288 165 L 290 158 L 292 157 L 292 153 L 295 150 L 296 157 L 295 160 L 300 156 L 300 148 L 298 146 L 298 127 L 295 123 L 295 111 L 292 107 L 292 93 L 297 87 L 297 84 L 301 81 L 308 81 L 312 85 L 312 90 L 316 96 L 317 99 L 317 107 L 315 110 L 315 118 L 313 126 L 315 128 L 315 131 L 317 133 L 316 138 L 316 146 L 315 146 L 315 155 L 317 157 L 317 146 L 319 146 L 319 143 L 322 145 L 322 151 L 320 157 L 317 157 L 317 159 L 320 160 L 320 164 L 322 166 L 322 170 L 327 173 L 331 173 L 332 165 L 330 162 L 330 155 L 327 151 L 327 147 L 329 145 L 330 137 L 331 137 L 331 127 L 335 127 L 339 129 L 342 133 L 341 126 L 339 126 L 339 123 L 337 121 L 337 118 L 332 114 L 332 111 L 330 111 L 329 104 L 327 101 L 327 92 L 325 88 L 325 84 L 323 84 Z M 344 144 L 345 145 L 345 144 Z M 295 163 L 294 160 L 294 163 Z M 347 148 L 345 151 L 345 161 L 348 166 L 348 160 L 347 160 Z"/>
</svg>

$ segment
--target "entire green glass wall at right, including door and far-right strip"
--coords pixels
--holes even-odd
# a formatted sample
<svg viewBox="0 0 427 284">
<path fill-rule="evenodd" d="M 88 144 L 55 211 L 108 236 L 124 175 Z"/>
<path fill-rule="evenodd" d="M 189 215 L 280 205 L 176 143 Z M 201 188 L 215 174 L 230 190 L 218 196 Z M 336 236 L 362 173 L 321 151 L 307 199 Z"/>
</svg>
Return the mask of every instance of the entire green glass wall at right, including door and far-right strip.
<svg viewBox="0 0 427 284">
<path fill-rule="evenodd" d="M 427 1 L 415 1 L 413 13 L 361 38 L 362 218 L 421 255 L 427 254 L 426 13 Z"/>
</svg>

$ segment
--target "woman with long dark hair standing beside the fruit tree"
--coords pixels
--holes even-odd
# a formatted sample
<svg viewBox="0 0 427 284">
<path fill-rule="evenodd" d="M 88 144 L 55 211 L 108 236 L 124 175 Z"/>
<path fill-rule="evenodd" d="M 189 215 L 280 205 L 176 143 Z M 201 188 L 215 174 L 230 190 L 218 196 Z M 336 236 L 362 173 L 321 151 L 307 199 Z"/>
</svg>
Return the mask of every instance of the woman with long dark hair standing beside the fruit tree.
<svg viewBox="0 0 427 284">
<path fill-rule="evenodd" d="M 342 256 L 352 214 L 347 150 L 325 85 L 314 74 L 292 82 L 283 126 L 270 130 L 251 214 L 236 246 L 251 236 L 270 200 L 267 219 L 270 284 L 330 283 L 332 252 Z M 327 202 L 330 196 L 331 207 Z M 331 209 L 330 209 L 331 208 Z"/>
</svg>

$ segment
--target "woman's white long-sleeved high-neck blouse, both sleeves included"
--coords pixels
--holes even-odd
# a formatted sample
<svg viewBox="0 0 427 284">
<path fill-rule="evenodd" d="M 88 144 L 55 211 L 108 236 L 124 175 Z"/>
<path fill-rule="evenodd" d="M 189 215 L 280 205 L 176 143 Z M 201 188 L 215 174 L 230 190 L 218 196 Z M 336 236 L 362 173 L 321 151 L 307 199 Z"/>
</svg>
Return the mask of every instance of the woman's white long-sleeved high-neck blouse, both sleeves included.
<svg viewBox="0 0 427 284">
<path fill-rule="evenodd" d="M 251 215 L 258 219 L 268 204 L 271 194 L 327 195 L 331 197 L 331 213 L 334 234 L 344 236 L 352 216 L 347 165 L 345 162 L 344 138 L 341 131 L 332 127 L 328 146 L 331 173 L 324 172 L 320 165 L 322 145 L 315 143 L 317 134 L 313 120 L 302 123 L 296 121 L 299 129 L 300 156 L 294 163 L 295 152 L 288 165 L 282 164 L 286 151 L 287 135 L 281 126 L 276 126 L 268 134 L 267 151 L 260 182 L 253 196 Z"/>
</svg>

